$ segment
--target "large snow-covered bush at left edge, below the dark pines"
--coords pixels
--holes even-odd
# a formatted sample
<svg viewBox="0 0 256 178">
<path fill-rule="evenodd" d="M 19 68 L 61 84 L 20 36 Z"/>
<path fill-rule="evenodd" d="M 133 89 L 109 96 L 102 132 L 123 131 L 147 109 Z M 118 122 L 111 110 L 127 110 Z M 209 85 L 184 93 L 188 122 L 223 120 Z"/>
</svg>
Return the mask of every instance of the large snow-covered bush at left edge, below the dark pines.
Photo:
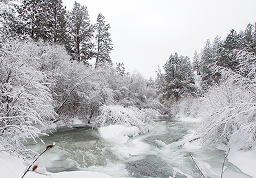
<svg viewBox="0 0 256 178">
<path fill-rule="evenodd" d="M 22 142 L 46 134 L 55 117 L 47 75 L 22 50 L 18 41 L 0 48 L 0 151 L 18 155 L 26 150 Z"/>
</svg>

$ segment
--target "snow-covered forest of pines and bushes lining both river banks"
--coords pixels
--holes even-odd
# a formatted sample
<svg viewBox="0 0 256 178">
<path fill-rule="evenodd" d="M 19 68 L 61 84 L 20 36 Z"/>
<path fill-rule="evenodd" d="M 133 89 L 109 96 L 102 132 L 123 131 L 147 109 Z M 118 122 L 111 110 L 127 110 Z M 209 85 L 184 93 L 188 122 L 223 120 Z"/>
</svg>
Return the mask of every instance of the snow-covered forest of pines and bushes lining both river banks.
<svg viewBox="0 0 256 178">
<path fill-rule="evenodd" d="M 195 132 L 204 148 L 256 143 L 256 23 L 206 40 L 193 59 L 170 51 L 156 79 L 113 63 L 110 24 L 91 24 L 87 7 L 62 0 L 1 0 L 0 152 L 25 158 L 24 142 L 74 120 L 136 126 L 154 118 L 201 118 Z M 43 142 L 43 140 L 41 140 Z"/>
</svg>

